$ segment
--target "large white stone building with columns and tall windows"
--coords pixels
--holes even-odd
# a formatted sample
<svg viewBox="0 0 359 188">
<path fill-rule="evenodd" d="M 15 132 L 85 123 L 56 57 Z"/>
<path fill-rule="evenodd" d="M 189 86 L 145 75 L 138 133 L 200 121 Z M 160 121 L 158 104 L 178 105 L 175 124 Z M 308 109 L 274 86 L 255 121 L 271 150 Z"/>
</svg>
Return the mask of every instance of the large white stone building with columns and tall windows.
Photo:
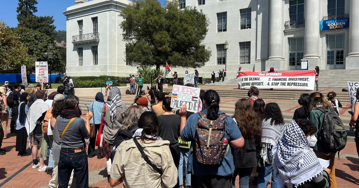
<svg viewBox="0 0 359 188">
<path fill-rule="evenodd" d="M 301 60 L 308 69 L 359 68 L 359 0 L 179 0 L 180 8 L 195 6 L 208 16 L 210 25 L 203 41 L 212 56 L 200 76 L 227 67 L 235 77 L 238 67 L 244 71 L 299 70 Z M 74 5 L 64 12 L 67 17 L 67 73 L 72 75 L 110 74 L 127 76 L 135 68 L 126 66 L 121 39 L 121 17 L 126 0 L 93 0 Z M 92 19 L 98 18 L 99 39 L 74 41 L 80 34 L 93 33 Z M 348 19 L 347 19 L 348 18 Z M 341 29 L 325 30 L 320 21 L 332 20 Z M 340 23 L 336 23 L 340 22 Z M 348 23 L 349 22 L 349 23 Z M 332 26 L 333 27 L 333 26 Z M 77 39 L 76 39 L 77 40 Z M 225 41 L 228 50 L 225 49 Z M 98 63 L 93 46 L 98 45 Z M 83 48 L 83 66 L 79 65 Z M 226 56 L 227 54 L 227 56 Z M 227 66 L 225 66 L 227 64 Z M 180 76 L 183 68 L 172 68 Z M 188 69 L 189 72 L 193 70 Z M 217 74 L 216 74 L 217 75 Z"/>
</svg>

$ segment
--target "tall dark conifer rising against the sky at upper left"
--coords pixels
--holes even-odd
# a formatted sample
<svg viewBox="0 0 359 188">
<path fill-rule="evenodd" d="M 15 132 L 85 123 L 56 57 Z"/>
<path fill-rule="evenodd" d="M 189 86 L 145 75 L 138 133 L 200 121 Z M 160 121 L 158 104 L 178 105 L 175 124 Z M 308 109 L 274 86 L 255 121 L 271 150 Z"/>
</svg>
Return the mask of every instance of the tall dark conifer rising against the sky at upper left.
<svg viewBox="0 0 359 188">
<path fill-rule="evenodd" d="M 37 30 L 41 33 L 45 33 L 51 39 L 56 38 L 55 29 L 53 25 L 53 16 L 36 16 L 33 13 L 37 12 L 36 0 L 19 0 L 17 8 L 17 19 L 19 21 L 18 26 L 26 27 L 29 29 Z"/>
</svg>

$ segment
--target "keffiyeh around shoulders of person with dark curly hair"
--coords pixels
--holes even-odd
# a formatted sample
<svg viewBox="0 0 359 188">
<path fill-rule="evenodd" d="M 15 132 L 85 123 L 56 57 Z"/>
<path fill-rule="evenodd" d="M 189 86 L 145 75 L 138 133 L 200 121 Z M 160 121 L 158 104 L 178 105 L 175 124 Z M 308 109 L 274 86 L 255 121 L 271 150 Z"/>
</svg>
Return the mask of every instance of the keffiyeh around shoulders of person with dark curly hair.
<svg viewBox="0 0 359 188">
<path fill-rule="evenodd" d="M 280 138 L 282 138 L 285 124 L 271 124 L 271 119 L 262 121 L 262 146 L 270 148 L 275 146 Z"/>
</svg>

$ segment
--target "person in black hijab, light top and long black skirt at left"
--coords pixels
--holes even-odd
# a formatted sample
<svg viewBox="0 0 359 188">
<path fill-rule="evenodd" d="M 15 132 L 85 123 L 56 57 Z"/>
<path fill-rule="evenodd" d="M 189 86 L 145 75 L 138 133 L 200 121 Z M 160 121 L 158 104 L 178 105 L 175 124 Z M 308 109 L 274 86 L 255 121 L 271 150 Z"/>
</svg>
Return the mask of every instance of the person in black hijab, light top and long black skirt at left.
<svg viewBox="0 0 359 188">
<path fill-rule="evenodd" d="M 20 105 L 19 105 L 19 116 L 16 120 L 16 149 L 18 151 L 18 156 L 26 156 L 26 142 L 27 142 L 27 133 L 25 128 L 26 116 L 28 109 L 26 108 L 27 102 L 30 96 L 29 93 L 23 92 L 20 96 Z"/>
</svg>

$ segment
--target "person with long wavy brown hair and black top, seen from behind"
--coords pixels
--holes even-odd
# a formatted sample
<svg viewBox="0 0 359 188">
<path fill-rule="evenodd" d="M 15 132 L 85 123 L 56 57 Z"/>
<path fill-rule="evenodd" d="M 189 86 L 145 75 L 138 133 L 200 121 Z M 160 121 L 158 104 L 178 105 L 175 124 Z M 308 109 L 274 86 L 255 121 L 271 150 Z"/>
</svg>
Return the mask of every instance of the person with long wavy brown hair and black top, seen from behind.
<svg viewBox="0 0 359 188">
<path fill-rule="evenodd" d="M 236 102 L 233 119 L 244 138 L 243 148 L 234 148 L 234 174 L 232 185 L 235 187 L 239 175 L 239 187 L 249 187 L 253 168 L 257 166 L 256 145 L 261 142 L 261 117 L 253 110 L 251 102 L 242 98 Z"/>
</svg>

